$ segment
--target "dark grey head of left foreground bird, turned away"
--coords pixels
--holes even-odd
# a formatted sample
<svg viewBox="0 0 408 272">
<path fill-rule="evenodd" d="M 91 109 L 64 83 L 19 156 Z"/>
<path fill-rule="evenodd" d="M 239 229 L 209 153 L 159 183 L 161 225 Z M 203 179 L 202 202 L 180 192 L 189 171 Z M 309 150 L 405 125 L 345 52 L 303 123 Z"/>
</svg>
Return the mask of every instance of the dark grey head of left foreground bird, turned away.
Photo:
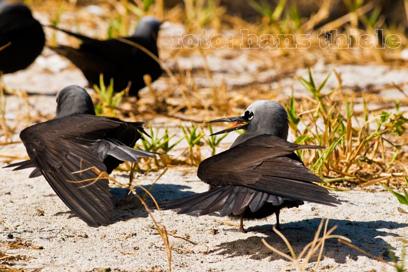
<svg viewBox="0 0 408 272">
<path fill-rule="evenodd" d="M 65 87 L 57 94 L 57 115 L 55 118 L 73 114 L 95 115 L 91 96 L 78 85 Z"/>
</svg>

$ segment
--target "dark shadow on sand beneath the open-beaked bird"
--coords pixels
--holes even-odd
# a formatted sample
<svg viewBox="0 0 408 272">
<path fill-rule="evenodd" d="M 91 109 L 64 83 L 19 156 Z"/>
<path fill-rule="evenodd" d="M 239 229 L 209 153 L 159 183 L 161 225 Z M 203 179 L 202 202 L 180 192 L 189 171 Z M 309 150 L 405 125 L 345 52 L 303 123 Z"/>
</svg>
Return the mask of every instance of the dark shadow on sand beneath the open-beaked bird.
<svg viewBox="0 0 408 272">
<path fill-rule="evenodd" d="M 296 222 L 289 222 L 287 224 L 281 223 L 281 232 L 288 239 L 295 254 L 299 254 L 303 248 L 313 240 L 317 228 L 320 224 L 321 218 L 305 219 Z M 392 261 L 390 250 L 396 255 L 400 254 L 395 252 L 395 248 L 392 248 L 381 237 L 396 236 L 387 230 L 395 230 L 399 228 L 408 227 L 408 224 L 399 224 L 392 221 L 350 221 L 350 220 L 337 220 L 330 219 L 328 222 L 328 229 L 337 225 L 338 228 L 333 234 L 342 235 L 352 240 L 352 244 L 358 248 L 373 254 L 374 256 L 381 257 L 386 261 Z M 273 225 L 263 225 L 248 228 L 248 232 L 257 232 L 267 235 L 264 237 L 265 241 L 272 245 L 275 249 L 291 256 L 291 253 L 286 246 L 285 242 L 272 230 Z M 378 229 L 387 229 L 385 231 Z M 322 233 L 322 232 L 321 232 Z M 320 234 L 321 237 L 321 234 Z M 283 257 L 273 253 L 262 242 L 262 237 L 251 236 L 245 239 L 239 239 L 231 242 L 222 242 L 215 247 L 213 252 L 218 255 L 227 255 L 230 257 L 236 256 L 248 256 L 251 259 L 264 259 L 270 260 L 282 259 Z M 340 243 L 337 239 L 328 239 L 325 241 L 323 256 L 335 259 L 337 263 L 347 262 L 347 258 L 356 260 L 359 256 L 366 256 L 365 254 L 350 248 L 349 246 Z M 311 261 L 316 261 L 317 254 Z M 398 258 L 397 258 L 398 259 Z"/>
</svg>

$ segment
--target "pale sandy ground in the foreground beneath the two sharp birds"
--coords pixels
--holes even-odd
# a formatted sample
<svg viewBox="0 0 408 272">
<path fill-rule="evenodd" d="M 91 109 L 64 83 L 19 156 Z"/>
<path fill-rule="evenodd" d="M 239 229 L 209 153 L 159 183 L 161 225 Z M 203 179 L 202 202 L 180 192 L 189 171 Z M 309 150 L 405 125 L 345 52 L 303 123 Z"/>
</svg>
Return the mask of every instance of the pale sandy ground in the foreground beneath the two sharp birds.
<svg viewBox="0 0 408 272">
<path fill-rule="evenodd" d="M 125 189 L 112 188 L 117 203 L 113 224 L 91 228 L 69 211 L 42 177 L 27 179 L 29 172 L 0 169 L 3 206 L 0 242 L 22 239 L 27 244 L 41 246 L 41 250 L 33 250 L 2 245 L 1 251 L 7 249 L 7 254 L 23 258 L 13 261 L 14 268 L 42 268 L 41 271 L 167 269 L 163 242 L 143 206 L 138 206 L 137 201 L 121 204 Z M 150 172 L 140 184 L 148 187 L 159 174 Z M 127 175 L 120 172 L 113 176 L 123 183 L 127 181 Z M 151 192 L 158 201 L 165 201 L 206 188 L 195 176 L 194 167 L 178 167 L 170 168 Z M 397 211 L 397 207 L 404 207 L 396 204 L 391 194 L 356 190 L 333 194 L 342 202 L 341 206 L 307 203 L 281 213 L 282 233 L 297 254 L 313 239 L 320 220 L 329 218 L 328 227 L 337 225 L 334 233 L 348 237 L 359 248 L 387 261 L 392 261 L 390 250 L 397 258 L 401 256 L 404 250 L 401 239 L 406 239 L 408 233 L 407 215 Z M 248 232 L 237 233 L 237 227 L 223 224 L 228 218 L 217 214 L 198 217 L 196 213 L 179 215 L 155 209 L 152 215 L 168 231 L 189 236 L 189 239 L 169 237 L 174 271 L 295 270 L 291 262 L 272 253 L 261 241 L 264 238 L 276 249 L 289 254 L 284 241 L 272 231 L 274 217 L 246 221 Z M 323 256 L 319 271 L 394 270 L 336 239 L 326 241 Z M 314 267 L 315 261 L 316 256 L 306 267 Z"/>
</svg>

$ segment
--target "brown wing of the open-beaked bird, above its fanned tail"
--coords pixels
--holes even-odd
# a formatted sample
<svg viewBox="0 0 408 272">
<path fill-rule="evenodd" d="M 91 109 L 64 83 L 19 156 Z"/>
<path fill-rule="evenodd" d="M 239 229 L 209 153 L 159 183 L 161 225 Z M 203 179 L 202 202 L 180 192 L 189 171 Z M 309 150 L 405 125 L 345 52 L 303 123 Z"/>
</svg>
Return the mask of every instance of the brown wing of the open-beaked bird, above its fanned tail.
<svg viewBox="0 0 408 272">
<path fill-rule="evenodd" d="M 313 183 L 322 181 L 294 154 L 310 148 L 324 147 L 260 135 L 202 161 L 197 176 L 212 186 L 243 186 L 296 200 L 339 204 L 326 189 Z"/>
</svg>

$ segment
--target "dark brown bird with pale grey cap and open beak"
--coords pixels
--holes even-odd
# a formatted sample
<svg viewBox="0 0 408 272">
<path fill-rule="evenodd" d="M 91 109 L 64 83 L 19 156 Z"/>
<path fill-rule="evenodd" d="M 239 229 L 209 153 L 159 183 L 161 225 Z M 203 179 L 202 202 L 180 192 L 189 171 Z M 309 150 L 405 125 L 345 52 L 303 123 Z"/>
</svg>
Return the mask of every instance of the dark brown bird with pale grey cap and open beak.
<svg viewBox="0 0 408 272">
<path fill-rule="evenodd" d="M 180 209 L 178 213 L 201 210 L 199 215 L 220 212 L 243 219 L 276 215 L 282 208 L 298 207 L 303 201 L 336 206 L 340 204 L 328 191 L 315 184 L 322 180 L 304 166 L 294 153 L 301 149 L 323 149 L 323 146 L 301 145 L 287 141 L 289 121 L 285 108 L 274 101 L 252 103 L 238 117 L 210 122 L 236 122 L 214 133 L 244 129 L 230 149 L 203 160 L 197 176 L 210 185 L 207 192 L 173 200 L 163 209 Z"/>
</svg>

